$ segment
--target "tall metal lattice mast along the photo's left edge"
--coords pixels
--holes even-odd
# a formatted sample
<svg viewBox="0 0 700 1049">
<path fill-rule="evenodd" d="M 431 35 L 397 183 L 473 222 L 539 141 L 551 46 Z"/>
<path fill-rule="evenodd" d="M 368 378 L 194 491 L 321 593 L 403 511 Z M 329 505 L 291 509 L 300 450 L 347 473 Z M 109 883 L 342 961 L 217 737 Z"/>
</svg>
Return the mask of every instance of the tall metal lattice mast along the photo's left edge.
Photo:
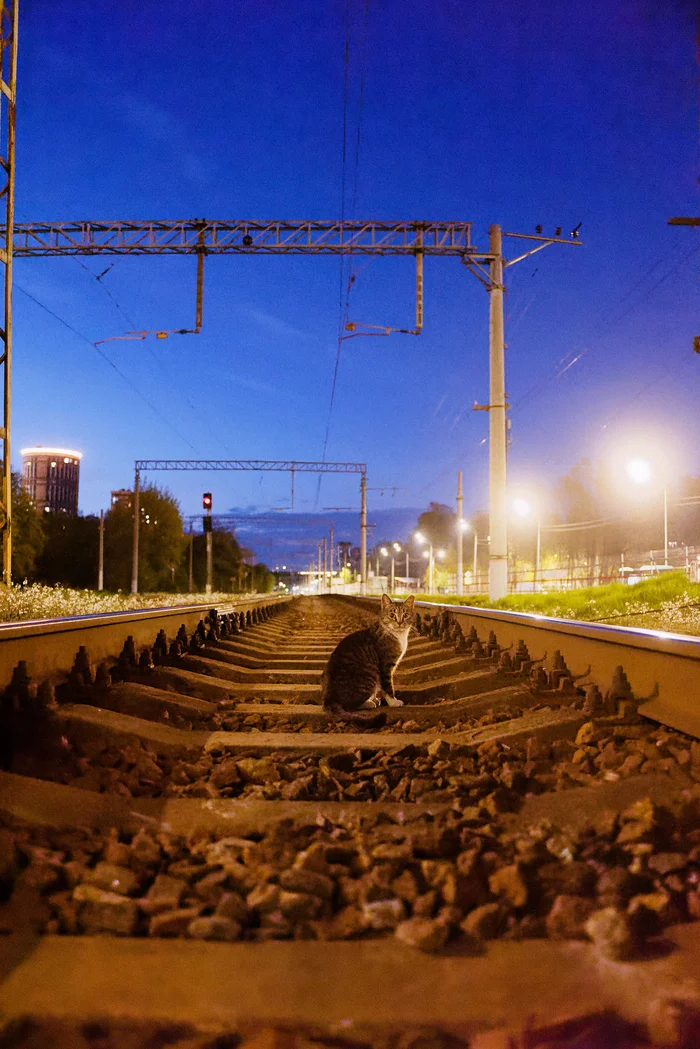
<svg viewBox="0 0 700 1049">
<path fill-rule="evenodd" d="M 2 578 L 12 582 L 12 364 L 13 364 L 13 244 L 15 220 L 15 113 L 17 83 L 18 0 L 0 0 L 0 207 L 4 223 L 0 230 L 0 262 L 4 269 L 2 316 L 0 318 L 0 365 L 2 365 L 2 492 L 0 493 L 0 532 L 2 533 Z"/>
</svg>

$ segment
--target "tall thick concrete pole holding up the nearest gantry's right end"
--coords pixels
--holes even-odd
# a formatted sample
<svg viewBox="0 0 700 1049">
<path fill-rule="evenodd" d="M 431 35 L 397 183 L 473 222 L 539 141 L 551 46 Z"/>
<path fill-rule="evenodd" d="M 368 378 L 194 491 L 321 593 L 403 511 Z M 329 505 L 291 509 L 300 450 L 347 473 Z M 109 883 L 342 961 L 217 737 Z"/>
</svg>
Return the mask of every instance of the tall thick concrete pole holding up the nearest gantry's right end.
<svg viewBox="0 0 700 1049">
<path fill-rule="evenodd" d="M 489 596 L 508 594 L 508 493 L 506 488 L 506 362 L 503 339 L 503 241 L 489 227 Z"/>
</svg>

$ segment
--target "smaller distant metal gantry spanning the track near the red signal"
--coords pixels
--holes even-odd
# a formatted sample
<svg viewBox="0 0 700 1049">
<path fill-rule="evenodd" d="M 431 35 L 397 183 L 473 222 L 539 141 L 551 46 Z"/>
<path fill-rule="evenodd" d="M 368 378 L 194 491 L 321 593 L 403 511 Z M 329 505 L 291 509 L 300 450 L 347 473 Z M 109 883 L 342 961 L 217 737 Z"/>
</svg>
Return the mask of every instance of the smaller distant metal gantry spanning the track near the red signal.
<svg viewBox="0 0 700 1049">
<path fill-rule="evenodd" d="M 367 587 L 367 464 L 366 463 L 309 463 L 297 459 L 136 459 L 133 477 L 133 547 L 131 557 L 131 593 L 139 593 L 139 531 L 141 474 L 153 470 L 254 470 L 256 472 L 282 471 L 292 475 L 292 500 L 294 501 L 294 477 L 297 473 L 359 473 L 360 474 L 360 558 L 361 592 Z M 209 533 L 211 536 L 211 533 Z M 208 550 L 211 550 L 209 544 Z M 210 556 L 210 555 L 209 555 Z M 208 570 L 208 576 L 211 573 Z M 211 583 L 208 583 L 209 591 Z M 209 593 L 208 591 L 208 593 Z"/>
</svg>

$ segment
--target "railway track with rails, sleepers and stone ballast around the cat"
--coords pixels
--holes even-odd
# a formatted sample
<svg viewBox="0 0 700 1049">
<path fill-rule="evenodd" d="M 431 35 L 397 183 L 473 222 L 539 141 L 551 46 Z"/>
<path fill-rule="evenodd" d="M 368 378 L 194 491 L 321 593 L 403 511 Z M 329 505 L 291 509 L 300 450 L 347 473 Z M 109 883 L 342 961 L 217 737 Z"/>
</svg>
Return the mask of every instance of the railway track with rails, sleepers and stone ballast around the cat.
<svg viewBox="0 0 700 1049">
<path fill-rule="evenodd" d="M 361 731 L 375 607 L 0 628 L 0 1044 L 700 1045 L 700 645 L 422 606 Z"/>
</svg>

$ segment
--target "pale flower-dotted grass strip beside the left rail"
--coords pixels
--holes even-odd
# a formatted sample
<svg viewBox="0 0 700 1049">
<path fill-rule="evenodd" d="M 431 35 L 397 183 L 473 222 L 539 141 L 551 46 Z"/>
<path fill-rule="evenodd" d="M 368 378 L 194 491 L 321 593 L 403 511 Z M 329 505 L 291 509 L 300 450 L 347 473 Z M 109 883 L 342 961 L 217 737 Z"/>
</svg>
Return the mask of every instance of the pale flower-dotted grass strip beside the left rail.
<svg viewBox="0 0 700 1049">
<path fill-rule="evenodd" d="M 105 612 L 131 612 L 178 604 L 211 604 L 216 607 L 235 597 L 235 594 L 109 594 L 106 591 L 68 590 L 65 586 L 45 586 L 42 583 L 16 586 L 0 584 L 0 622 L 96 616 Z"/>
</svg>

